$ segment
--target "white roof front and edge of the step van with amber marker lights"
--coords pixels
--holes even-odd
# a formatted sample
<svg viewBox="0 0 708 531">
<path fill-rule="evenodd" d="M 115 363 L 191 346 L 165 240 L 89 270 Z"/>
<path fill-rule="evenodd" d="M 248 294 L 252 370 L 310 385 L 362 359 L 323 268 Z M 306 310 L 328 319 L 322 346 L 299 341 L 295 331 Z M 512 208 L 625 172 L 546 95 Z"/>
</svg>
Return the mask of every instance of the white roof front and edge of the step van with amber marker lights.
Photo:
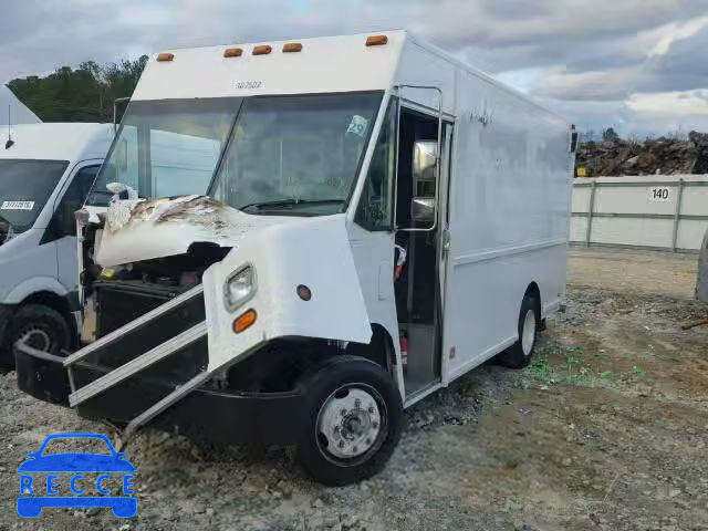
<svg viewBox="0 0 708 531">
<path fill-rule="evenodd" d="M 285 53 L 287 44 L 298 45 L 291 50 L 298 53 Z M 404 29 L 163 49 L 150 55 L 133 98 L 178 100 L 386 91 L 399 81 L 397 74 L 400 73 L 406 46 L 410 45 L 565 124 L 570 123 L 528 94 L 508 86 Z M 306 58 L 315 58 L 313 61 L 316 61 L 317 66 L 313 67 L 314 62 L 305 62 Z M 343 60 L 346 62 L 345 69 L 342 69 Z M 308 75 L 299 75 L 305 64 L 309 67 Z M 330 75 L 332 71 L 336 71 L 337 75 Z"/>
</svg>

